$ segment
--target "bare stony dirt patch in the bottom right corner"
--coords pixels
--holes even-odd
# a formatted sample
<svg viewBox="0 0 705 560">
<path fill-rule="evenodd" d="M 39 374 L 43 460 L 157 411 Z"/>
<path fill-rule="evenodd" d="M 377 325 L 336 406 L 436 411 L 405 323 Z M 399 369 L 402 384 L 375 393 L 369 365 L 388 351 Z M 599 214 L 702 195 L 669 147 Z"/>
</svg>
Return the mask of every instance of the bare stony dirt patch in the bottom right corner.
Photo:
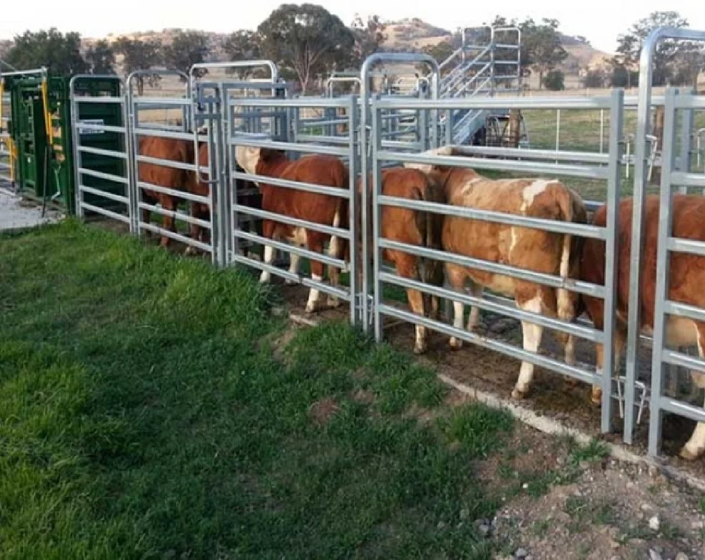
<svg viewBox="0 0 705 560">
<path fill-rule="evenodd" d="M 570 448 L 522 425 L 484 465 L 505 503 L 490 523 L 496 559 L 705 559 L 704 497 L 599 454 L 577 462 Z"/>
</svg>

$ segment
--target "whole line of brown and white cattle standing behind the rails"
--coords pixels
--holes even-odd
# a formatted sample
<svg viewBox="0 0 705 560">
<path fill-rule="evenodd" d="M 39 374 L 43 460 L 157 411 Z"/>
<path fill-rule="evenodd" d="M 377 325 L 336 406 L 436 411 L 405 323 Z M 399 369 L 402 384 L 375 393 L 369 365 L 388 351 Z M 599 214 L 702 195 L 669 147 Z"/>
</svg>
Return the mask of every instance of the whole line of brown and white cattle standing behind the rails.
<svg viewBox="0 0 705 560">
<path fill-rule="evenodd" d="M 200 163 L 207 163 L 207 151 L 201 147 Z M 154 158 L 193 162 L 192 142 L 149 138 L 140 143 L 140 153 Z M 454 155 L 453 147 L 431 150 L 429 154 Z M 348 168 L 341 159 L 333 156 L 309 155 L 289 160 L 282 151 L 255 147 L 236 147 L 235 159 L 240 168 L 252 175 L 305 182 L 325 187 L 349 188 Z M 197 180 L 192 171 L 183 171 L 140 163 L 140 180 L 173 189 L 186 189 L 197 194 L 207 194 L 208 185 Z M 372 181 L 369 181 L 372 184 Z M 358 182 L 360 185 L 360 182 Z M 251 186 L 251 185 L 250 185 Z M 239 187 L 243 187 L 243 182 Z M 238 188 L 239 188 L 238 187 Z M 348 200 L 326 194 L 314 194 L 260 182 L 257 199 L 250 199 L 252 206 L 298 220 L 347 228 L 349 221 Z M 358 194 L 360 187 L 358 186 Z M 537 179 L 488 179 L 470 168 L 450 168 L 407 163 L 404 167 L 388 168 L 382 173 L 381 191 L 391 197 L 431 201 L 453 206 L 463 206 L 484 211 L 510 213 L 532 218 L 588 223 L 588 215 L 580 196 L 557 180 Z M 158 200 L 166 209 L 176 209 L 178 199 L 160 192 L 145 192 L 147 197 Z M 644 256 L 642 259 L 642 332 L 654 327 L 654 301 L 656 297 L 656 246 L 658 235 L 658 197 L 646 199 L 646 226 Z M 207 207 L 192 205 L 197 216 L 207 217 Z M 632 199 L 624 198 L 619 207 L 617 299 L 615 317 L 615 363 L 625 347 L 627 335 L 627 302 L 629 299 L 630 249 Z M 673 234 L 685 239 L 705 240 L 705 197 L 675 195 L 673 199 Z M 143 215 L 147 221 L 149 216 Z M 597 239 L 583 239 L 563 233 L 505 225 L 484 220 L 470 220 L 439 213 L 384 206 L 381 210 L 380 237 L 405 244 L 439 249 L 471 259 L 502 263 L 537 273 L 558 275 L 568 280 L 580 279 L 598 285 L 605 280 L 606 245 Z M 598 209 L 591 223 L 604 226 L 606 206 Z M 173 231 L 173 220 L 165 219 L 167 229 Z M 268 239 L 286 241 L 311 251 L 321 253 L 328 243 L 330 256 L 349 262 L 350 247 L 347 239 L 340 239 L 311 229 L 294 227 L 272 220 L 262 220 L 261 234 Z M 203 235 L 192 228 L 192 237 Z M 368 232 L 369 235 L 369 232 Z M 201 237 L 201 239 L 203 239 Z M 168 238 L 162 238 L 168 244 Z M 508 275 L 499 275 L 479 268 L 469 268 L 446 263 L 445 275 L 439 261 L 403 251 L 385 249 L 383 259 L 393 263 L 398 275 L 412 280 L 422 280 L 440 286 L 444 278 L 455 290 L 466 288 L 479 297 L 483 290 L 492 290 L 515 300 L 517 308 L 564 321 L 574 321 L 587 313 L 595 327 L 603 329 L 603 301 L 566 290 L 548 287 Z M 271 264 L 274 249 L 264 248 L 264 262 Z M 291 254 L 290 271 L 298 269 L 298 256 Z M 328 266 L 331 285 L 337 285 L 341 270 Z M 324 263 L 312 261 L 312 280 L 321 282 Z M 268 282 L 270 275 L 262 272 L 261 282 Z M 674 301 L 705 308 L 705 257 L 673 254 L 670 259 L 669 298 Z M 319 290 L 312 287 L 307 302 L 307 312 L 319 309 Z M 417 290 L 407 290 L 411 310 L 422 316 L 439 318 L 439 301 Z M 329 305 L 336 305 L 335 298 Z M 454 303 L 454 326 L 462 328 L 464 306 Z M 529 316 L 527 316 L 528 318 Z M 474 330 L 479 323 L 479 309 L 471 306 L 467 330 Z M 530 321 L 521 321 L 523 347 L 537 352 L 544 328 Z M 705 356 L 705 323 L 670 316 L 666 325 L 666 338 L 670 346 L 696 346 L 699 355 Z M 575 362 L 573 335 L 559 334 L 565 349 L 565 361 Z M 461 341 L 453 337 L 450 347 L 458 349 Z M 422 353 L 427 348 L 427 330 L 417 326 L 414 351 Z M 602 370 L 603 348 L 596 347 L 596 368 Z M 534 374 L 534 365 L 522 362 L 519 378 L 513 390 L 514 398 L 527 394 Z M 694 382 L 705 387 L 705 375 L 694 373 Z M 601 402 L 601 387 L 594 386 L 592 400 Z M 705 424 L 698 423 L 681 456 L 695 459 L 705 452 Z"/>
</svg>

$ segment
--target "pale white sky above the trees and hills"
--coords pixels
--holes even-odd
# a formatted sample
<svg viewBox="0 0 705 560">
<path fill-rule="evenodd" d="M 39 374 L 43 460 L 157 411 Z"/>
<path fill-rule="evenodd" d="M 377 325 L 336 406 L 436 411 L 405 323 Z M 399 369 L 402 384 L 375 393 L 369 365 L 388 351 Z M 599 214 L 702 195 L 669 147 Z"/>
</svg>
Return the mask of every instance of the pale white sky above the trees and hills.
<svg viewBox="0 0 705 560">
<path fill-rule="evenodd" d="M 617 35 L 653 11 L 678 11 L 690 27 L 705 30 L 704 0 L 309 0 L 321 4 L 350 24 L 355 13 L 379 14 L 385 20 L 421 18 L 455 30 L 494 19 L 530 16 L 556 18 L 568 35 L 584 35 L 596 49 L 611 52 Z M 61 32 L 78 31 L 84 37 L 109 33 L 182 27 L 213 32 L 254 29 L 282 0 L 121 0 L 108 4 L 95 0 L 0 0 L 0 39 L 11 39 L 29 29 L 51 26 Z"/>
</svg>

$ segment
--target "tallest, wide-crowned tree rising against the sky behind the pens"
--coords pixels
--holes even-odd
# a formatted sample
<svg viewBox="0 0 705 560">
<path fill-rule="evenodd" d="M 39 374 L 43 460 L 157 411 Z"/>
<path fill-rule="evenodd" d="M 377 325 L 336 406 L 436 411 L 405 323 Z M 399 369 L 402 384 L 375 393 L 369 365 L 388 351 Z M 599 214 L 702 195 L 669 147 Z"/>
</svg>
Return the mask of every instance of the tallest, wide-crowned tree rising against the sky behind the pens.
<svg viewBox="0 0 705 560">
<path fill-rule="evenodd" d="M 353 31 L 314 4 L 282 4 L 257 27 L 262 54 L 295 72 L 305 94 L 312 77 L 344 68 L 355 46 Z"/>
</svg>

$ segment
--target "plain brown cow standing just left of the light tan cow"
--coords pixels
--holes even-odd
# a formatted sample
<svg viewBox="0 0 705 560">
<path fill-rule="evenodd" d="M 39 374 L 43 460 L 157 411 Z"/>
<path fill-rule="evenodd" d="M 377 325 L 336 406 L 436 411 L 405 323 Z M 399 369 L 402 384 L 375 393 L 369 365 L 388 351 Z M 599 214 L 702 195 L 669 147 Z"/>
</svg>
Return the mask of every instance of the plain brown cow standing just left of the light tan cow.
<svg viewBox="0 0 705 560">
<path fill-rule="evenodd" d="M 369 180 L 372 187 L 372 178 Z M 411 200 L 424 200 L 443 203 L 443 187 L 436 185 L 426 174 L 417 169 L 390 168 L 382 171 L 382 194 Z M 369 213 L 372 216 L 372 212 Z M 380 236 L 391 241 L 441 249 L 441 229 L 443 215 L 418 210 L 383 206 L 380 216 Z M 370 240 L 370 246 L 372 242 Z M 392 249 L 382 250 L 382 259 L 393 263 L 398 275 L 411 280 L 422 280 L 431 285 L 443 285 L 443 266 L 434 259 L 424 259 L 418 255 Z M 428 297 L 419 290 L 408 288 L 407 299 L 414 313 L 421 316 L 439 317 L 439 300 Z M 415 354 L 423 354 L 427 349 L 427 329 L 416 326 L 414 343 Z"/>
</svg>

